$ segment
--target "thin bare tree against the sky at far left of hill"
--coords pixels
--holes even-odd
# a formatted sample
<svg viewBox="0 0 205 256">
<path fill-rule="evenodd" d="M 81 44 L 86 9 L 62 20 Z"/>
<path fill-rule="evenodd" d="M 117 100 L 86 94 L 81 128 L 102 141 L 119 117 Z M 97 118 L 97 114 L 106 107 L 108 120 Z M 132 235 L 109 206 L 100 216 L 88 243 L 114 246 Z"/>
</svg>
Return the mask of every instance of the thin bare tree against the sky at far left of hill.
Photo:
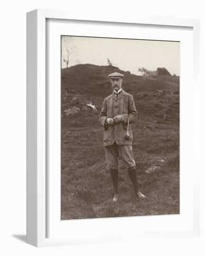
<svg viewBox="0 0 205 256">
<path fill-rule="evenodd" d="M 61 37 L 61 45 L 62 45 L 62 59 L 66 64 L 66 67 L 68 67 L 68 64 L 70 62 L 70 56 L 71 54 L 75 53 L 75 46 L 73 44 L 73 37 L 71 36 L 62 36 Z"/>
</svg>

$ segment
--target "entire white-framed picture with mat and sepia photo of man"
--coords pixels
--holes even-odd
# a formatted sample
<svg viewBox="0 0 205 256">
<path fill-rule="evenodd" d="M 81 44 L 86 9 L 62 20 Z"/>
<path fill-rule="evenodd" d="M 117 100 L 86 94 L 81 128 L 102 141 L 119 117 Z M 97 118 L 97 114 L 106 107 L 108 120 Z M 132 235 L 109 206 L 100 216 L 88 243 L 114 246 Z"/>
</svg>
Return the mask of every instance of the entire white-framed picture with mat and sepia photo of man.
<svg viewBox="0 0 205 256">
<path fill-rule="evenodd" d="M 198 70 L 199 20 L 27 13 L 27 243 L 199 235 Z"/>
</svg>

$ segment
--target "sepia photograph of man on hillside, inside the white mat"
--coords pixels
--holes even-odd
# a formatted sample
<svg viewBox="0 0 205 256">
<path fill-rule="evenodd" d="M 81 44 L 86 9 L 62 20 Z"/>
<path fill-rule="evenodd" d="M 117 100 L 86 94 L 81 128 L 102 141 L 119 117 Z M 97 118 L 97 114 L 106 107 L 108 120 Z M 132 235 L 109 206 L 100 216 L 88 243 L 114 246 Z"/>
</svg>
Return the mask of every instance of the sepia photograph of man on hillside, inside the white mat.
<svg viewBox="0 0 205 256">
<path fill-rule="evenodd" d="M 60 43 L 61 220 L 179 214 L 180 42 Z"/>
</svg>

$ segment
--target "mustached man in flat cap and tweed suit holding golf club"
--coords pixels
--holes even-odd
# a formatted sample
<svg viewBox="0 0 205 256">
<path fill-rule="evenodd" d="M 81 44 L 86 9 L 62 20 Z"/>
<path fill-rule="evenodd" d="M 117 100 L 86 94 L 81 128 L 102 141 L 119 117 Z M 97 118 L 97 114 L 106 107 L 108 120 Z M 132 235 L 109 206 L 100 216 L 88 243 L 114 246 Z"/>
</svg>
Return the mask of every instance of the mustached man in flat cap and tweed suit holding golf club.
<svg viewBox="0 0 205 256">
<path fill-rule="evenodd" d="M 108 168 L 110 169 L 115 190 L 113 202 L 118 201 L 118 163 L 119 157 L 123 168 L 128 169 L 129 177 L 135 189 L 135 195 L 145 198 L 138 189 L 135 160 L 132 152 L 133 134 L 129 124 L 137 118 L 135 102 L 131 94 L 122 89 L 123 74 L 112 73 L 108 76 L 111 80 L 113 93 L 103 101 L 99 117 L 100 125 L 104 127 L 103 146 Z M 129 136 L 126 136 L 128 129 Z"/>
</svg>

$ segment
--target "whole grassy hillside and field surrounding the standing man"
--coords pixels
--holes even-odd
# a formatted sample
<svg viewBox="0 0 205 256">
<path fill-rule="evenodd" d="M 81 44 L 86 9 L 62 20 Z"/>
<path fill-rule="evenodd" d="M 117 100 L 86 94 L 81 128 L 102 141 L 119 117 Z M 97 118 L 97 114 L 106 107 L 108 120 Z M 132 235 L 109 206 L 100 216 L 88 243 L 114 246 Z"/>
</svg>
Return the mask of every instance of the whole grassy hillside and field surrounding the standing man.
<svg viewBox="0 0 205 256">
<path fill-rule="evenodd" d="M 133 94 L 138 111 L 133 153 L 139 187 L 147 196 L 136 199 L 127 170 L 120 169 L 118 211 L 98 122 L 102 101 L 111 93 L 107 75 L 115 71 L 125 75 L 122 87 Z M 85 107 L 90 101 L 97 111 Z M 68 108 L 78 111 L 66 116 Z M 164 214 L 179 214 L 179 77 L 147 79 L 89 64 L 62 69 L 61 218 Z"/>
</svg>

